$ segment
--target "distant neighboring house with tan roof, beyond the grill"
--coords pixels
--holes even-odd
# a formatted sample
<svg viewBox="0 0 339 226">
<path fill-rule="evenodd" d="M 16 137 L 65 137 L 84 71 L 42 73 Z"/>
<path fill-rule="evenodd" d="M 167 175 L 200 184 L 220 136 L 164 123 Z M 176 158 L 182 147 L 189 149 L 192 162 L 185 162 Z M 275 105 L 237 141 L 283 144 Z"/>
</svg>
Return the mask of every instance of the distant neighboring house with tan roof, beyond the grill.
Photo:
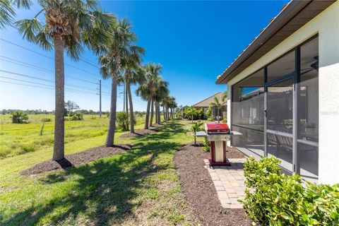
<svg viewBox="0 0 339 226">
<path fill-rule="evenodd" d="M 216 118 L 218 116 L 217 108 L 211 105 L 213 102 L 215 102 L 214 98 L 217 97 L 220 103 L 224 103 L 223 104 L 224 106 L 219 111 L 219 116 L 220 116 L 220 120 L 221 120 L 221 119 L 227 117 L 227 107 L 226 107 L 225 100 L 222 101 L 222 94 L 223 94 L 222 92 L 215 93 L 215 95 L 210 96 L 210 97 L 206 98 L 205 100 L 201 100 L 201 102 L 198 102 L 195 105 L 192 105 L 192 107 L 194 107 L 196 109 L 203 109 L 203 112 L 206 112 L 208 110 L 208 107 L 211 107 L 213 119 L 218 120 Z"/>
</svg>

